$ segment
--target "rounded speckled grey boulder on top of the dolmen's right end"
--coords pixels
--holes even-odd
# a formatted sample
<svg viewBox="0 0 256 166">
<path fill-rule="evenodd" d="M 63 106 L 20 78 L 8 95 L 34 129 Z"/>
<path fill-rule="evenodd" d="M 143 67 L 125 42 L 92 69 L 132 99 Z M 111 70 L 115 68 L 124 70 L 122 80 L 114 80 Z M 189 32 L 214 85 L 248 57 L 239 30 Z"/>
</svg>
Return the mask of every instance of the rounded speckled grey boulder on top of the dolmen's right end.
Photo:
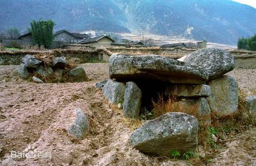
<svg viewBox="0 0 256 166">
<path fill-rule="evenodd" d="M 227 50 L 203 48 L 189 54 L 183 62 L 207 72 L 212 80 L 233 70 L 235 60 Z"/>
</svg>

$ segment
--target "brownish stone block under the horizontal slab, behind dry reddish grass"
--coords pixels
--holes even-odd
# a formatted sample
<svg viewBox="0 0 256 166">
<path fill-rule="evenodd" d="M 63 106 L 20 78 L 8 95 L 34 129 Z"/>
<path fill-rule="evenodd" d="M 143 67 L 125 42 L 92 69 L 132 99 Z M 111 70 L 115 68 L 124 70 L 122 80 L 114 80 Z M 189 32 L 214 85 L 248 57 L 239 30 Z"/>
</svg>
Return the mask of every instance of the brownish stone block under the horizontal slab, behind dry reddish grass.
<svg viewBox="0 0 256 166">
<path fill-rule="evenodd" d="M 205 98 L 182 99 L 174 102 L 174 104 L 177 104 L 179 108 L 182 108 L 185 113 L 196 116 L 198 120 L 207 124 L 211 123 L 210 107 Z"/>
</svg>

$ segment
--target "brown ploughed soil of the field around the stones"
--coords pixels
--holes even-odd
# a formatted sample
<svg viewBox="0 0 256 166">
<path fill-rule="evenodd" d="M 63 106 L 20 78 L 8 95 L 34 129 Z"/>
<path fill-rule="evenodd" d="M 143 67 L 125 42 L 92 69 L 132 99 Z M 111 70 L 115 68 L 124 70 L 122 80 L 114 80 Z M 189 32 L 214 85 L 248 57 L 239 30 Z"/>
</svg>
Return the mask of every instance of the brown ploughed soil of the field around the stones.
<svg viewBox="0 0 256 166">
<path fill-rule="evenodd" d="M 82 64 L 87 82 L 35 84 L 20 79 L 17 66 L 0 66 L 0 165 L 189 165 L 188 160 L 150 157 L 129 146 L 143 121 L 127 120 L 95 84 L 109 78 L 108 63 Z M 255 95 L 256 69 L 227 74 Z M 82 140 L 67 132 L 71 113 L 80 107 L 91 130 Z M 212 165 L 255 165 L 255 126 L 225 140 Z M 51 157 L 11 158 L 11 151 L 44 152 Z"/>
</svg>

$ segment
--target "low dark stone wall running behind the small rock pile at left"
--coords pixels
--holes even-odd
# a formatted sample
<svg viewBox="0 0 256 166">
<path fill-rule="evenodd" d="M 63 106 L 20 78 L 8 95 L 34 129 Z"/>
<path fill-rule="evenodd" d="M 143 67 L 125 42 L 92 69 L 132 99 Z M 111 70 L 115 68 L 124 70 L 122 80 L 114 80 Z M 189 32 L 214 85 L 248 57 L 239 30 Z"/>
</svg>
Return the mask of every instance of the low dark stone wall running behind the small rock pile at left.
<svg viewBox="0 0 256 166">
<path fill-rule="evenodd" d="M 40 52 L 49 52 L 49 51 L 3 51 L 0 52 L 0 65 L 19 65 L 20 61 L 26 54 L 37 54 Z M 99 59 L 98 51 L 92 50 L 53 50 L 52 51 L 55 57 L 65 57 L 66 60 L 71 58 L 78 58 L 80 63 L 87 63 L 91 59 Z"/>
</svg>

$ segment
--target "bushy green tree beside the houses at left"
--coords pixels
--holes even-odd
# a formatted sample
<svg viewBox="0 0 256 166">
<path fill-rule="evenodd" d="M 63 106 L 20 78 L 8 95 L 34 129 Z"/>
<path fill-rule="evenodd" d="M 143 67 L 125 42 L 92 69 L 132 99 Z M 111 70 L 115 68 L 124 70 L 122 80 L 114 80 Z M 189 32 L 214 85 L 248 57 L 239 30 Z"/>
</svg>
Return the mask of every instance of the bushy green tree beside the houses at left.
<svg viewBox="0 0 256 166">
<path fill-rule="evenodd" d="M 33 20 L 30 22 L 30 25 L 31 29 L 29 30 L 33 37 L 33 43 L 37 44 L 38 46 L 44 45 L 45 48 L 50 48 L 54 40 L 53 26 L 55 23 L 53 20 Z"/>
</svg>

